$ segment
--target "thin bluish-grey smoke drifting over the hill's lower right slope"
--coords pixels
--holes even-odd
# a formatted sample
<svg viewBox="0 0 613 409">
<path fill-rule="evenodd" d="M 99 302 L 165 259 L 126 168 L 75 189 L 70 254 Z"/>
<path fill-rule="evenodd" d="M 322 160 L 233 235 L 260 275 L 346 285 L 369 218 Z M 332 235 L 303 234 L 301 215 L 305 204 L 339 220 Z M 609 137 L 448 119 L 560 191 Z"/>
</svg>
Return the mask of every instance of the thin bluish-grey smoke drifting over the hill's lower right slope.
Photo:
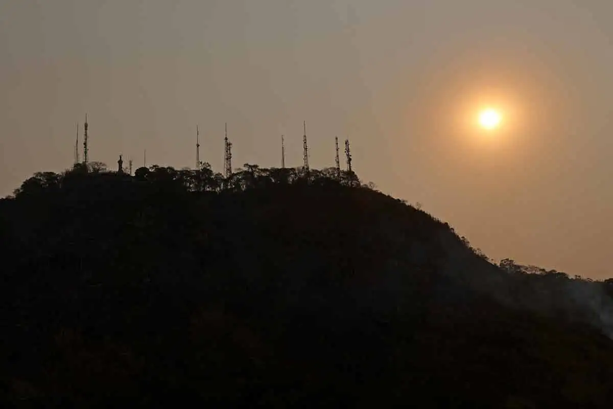
<svg viewBox="0 0 613 409">
<path fill-rule="evenodd" d="M 606 282 L 570 278 L 512 260 L 497 266 L 447 229 L 440 232 L 439 240 L 446 255 L 440 271 L 457 283 L 457 291 L 470 289 L 510 308 L 589 324 L 613 339 L 613 291 L 607 292 Z"/>
</svg>

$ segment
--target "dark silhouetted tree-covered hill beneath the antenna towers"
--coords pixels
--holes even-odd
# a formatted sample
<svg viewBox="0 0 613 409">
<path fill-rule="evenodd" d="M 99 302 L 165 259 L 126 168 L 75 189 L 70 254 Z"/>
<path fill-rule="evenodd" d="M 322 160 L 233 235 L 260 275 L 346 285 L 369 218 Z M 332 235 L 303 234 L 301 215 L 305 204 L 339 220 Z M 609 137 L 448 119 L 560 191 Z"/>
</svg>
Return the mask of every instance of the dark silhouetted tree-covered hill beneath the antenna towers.
<svg viewBox="0 0 613 409">
<path fill-rule="evenodd" d="M 609 408 L 609 282 L 493 264 L 335 169 L 39 173 L 0 201 L 2 407 Z"/>
</svg>

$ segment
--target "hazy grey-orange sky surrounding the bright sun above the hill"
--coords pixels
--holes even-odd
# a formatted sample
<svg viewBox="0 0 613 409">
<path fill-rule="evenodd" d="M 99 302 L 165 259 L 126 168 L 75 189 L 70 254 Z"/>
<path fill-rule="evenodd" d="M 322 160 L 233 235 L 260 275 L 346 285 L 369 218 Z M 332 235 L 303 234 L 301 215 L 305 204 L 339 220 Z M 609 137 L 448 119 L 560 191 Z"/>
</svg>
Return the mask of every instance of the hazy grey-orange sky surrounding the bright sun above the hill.
<svg viewBox="0 0 613 409">
<path fill-rule="evenodd" d="M 90 158 L 115 169 L 332 166 L 488 256 L 613 277 L 610 0 L 0 0 L 0 195 Z M 474 118 L 498 107 L 504 126 Z"/>
</svg>

